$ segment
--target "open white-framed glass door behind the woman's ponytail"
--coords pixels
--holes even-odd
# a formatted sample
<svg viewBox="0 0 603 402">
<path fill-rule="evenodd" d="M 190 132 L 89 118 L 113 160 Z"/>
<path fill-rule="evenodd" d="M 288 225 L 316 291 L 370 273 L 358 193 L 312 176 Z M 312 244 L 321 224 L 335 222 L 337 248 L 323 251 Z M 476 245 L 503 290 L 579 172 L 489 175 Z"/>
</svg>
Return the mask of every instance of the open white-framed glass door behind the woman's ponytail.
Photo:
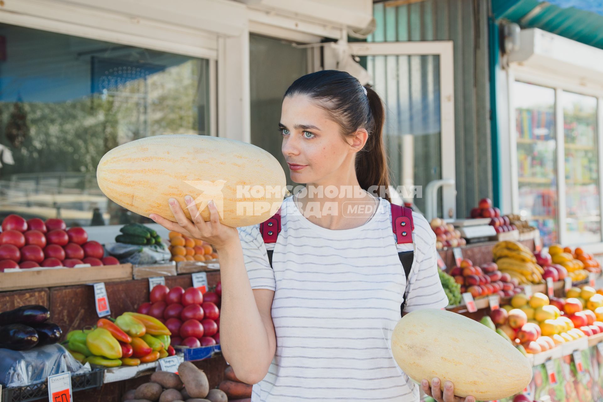
<svg viewBox="0 0 603 402">
<path fill-rule="evenodd" d="M 425 213 L 431 210 L 428 184 L 452 180 L 438 190 L 437 209 L 428 218 L 456 218 L 452 42 L 350 46 L 385 102 L 384 142 L 393 185 L 402 186 L 404 201 Z"/>
</svg>

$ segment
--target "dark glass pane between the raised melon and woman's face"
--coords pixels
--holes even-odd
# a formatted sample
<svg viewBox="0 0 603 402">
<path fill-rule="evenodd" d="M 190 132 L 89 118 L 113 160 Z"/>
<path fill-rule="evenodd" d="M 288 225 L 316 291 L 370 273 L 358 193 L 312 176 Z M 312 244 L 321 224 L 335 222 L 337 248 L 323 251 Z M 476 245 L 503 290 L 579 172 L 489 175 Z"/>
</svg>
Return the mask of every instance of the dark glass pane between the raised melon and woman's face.
<svg viewBox="0 0 603 402">
<path fill-rule="evenodd" d="M 259 35 L 249 36 L 251 143 L 270 152 L 289 172 L 278 127 L 283 95 L 293 81 L 308 74 L 308 49 Z M 287 174 L 287 184 L 294 186 Z"/>
</svg>

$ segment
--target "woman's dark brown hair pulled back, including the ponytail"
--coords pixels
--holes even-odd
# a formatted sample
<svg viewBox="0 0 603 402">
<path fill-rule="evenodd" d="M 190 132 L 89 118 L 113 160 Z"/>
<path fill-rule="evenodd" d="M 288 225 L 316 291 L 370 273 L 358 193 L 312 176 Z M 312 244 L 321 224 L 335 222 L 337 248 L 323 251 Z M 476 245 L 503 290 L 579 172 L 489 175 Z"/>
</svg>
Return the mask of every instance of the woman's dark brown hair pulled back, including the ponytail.
<svg viewBox="0 0 603 402">
<path fill-rule="evenodd" d="M 366 89 L 366 95 L 364 90 Z M 352 137 L 359 128 L 365 128 L 368 139 L 356 155 L 356 177 L 362 189 L 371 186 L 386 189 L 385 197 L 391 201 L 388 186 L 390 176 L 383 143 L 385 110 L 379 95 L 370 87 L 345 71 L 323 70 L 298 78 L 289 86 L 285 96 L 306 95 L 329 113 L 341 126 L 344 136 Z"/>
</svg>

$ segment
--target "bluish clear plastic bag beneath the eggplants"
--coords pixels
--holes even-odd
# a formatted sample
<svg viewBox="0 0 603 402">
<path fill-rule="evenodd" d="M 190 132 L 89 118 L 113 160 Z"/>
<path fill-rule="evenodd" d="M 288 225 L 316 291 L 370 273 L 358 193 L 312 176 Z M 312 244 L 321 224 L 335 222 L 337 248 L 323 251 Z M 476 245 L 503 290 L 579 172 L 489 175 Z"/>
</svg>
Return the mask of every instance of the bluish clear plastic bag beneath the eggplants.
<svg viewBox="0 0 603 402">
<path fill-rule="evenodd" d="M 66 371 L 82 374 L 90 371 L 90 365 L 82 365 L 59 344 L 22 351 L 0 349 L 0 385 L 6 388 L 42 382 Z"/>
</svg>

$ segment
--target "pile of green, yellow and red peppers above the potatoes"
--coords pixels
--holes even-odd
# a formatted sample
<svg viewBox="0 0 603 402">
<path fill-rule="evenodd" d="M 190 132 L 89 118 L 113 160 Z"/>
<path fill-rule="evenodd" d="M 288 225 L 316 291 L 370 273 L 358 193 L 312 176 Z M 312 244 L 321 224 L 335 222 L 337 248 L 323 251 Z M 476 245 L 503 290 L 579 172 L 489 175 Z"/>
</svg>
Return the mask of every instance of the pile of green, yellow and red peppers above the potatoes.
<svg viewBox="0 0 603 402">
<path fill-rule="evenodd" d="M 126 312 L 116 318 L 101 318 L 92 329 L 67 334 L 69 352 L 81 363 L 103 367 L 137 366 L 174 356 L 170 331 L 156 318 Z"/>
</svg>

